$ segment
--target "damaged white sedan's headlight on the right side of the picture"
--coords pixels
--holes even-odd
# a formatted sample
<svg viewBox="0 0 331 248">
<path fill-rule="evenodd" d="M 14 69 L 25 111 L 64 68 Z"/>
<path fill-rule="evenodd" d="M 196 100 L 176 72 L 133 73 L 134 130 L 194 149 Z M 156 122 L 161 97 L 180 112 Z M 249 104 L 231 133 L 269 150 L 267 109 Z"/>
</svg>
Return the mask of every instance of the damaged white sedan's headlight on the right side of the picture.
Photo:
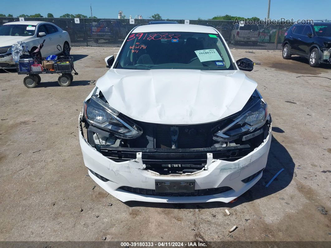
<svg viewBox="0 0 331 248">
<path fill-rule="evenodd" d="M 267 104 L 262 99 L 253 100 L 245 112 L 222 130 L 215 133 L 214 140 L 231 141 L 241 135 L 253 132 L 263 126 L 267 120 Z"/>
</svg>

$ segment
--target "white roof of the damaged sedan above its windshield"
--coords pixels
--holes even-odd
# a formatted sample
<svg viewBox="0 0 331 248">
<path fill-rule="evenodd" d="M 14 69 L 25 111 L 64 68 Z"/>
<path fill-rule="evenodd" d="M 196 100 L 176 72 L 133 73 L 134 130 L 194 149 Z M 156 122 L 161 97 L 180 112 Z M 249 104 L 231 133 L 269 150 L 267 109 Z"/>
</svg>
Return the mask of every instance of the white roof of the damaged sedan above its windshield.
<svg viewBox="0 0 331 248">
<path fill-rule="evenodd" d="M 213 27 L 192 24 L 153 24 L 137 26 L 133 33 L 143 32 L 196 32 L 196 33 L 216 33 Z"/>
</svg>

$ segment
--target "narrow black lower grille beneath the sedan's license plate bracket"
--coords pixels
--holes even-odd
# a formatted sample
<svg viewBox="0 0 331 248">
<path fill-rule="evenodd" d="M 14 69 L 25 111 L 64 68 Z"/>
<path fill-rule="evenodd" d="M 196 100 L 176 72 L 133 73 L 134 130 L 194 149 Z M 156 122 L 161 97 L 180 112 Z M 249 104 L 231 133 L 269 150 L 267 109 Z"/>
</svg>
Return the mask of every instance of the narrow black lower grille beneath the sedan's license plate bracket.
<svg viewBox="0 0 331 248">
<path fill-rule="evenodd" d="M 134 194 L 139 194 L 139 195 L 152 195 L 152 196 L 204 196 L 204 195 L 215 195 L 215 194 L 220 194 L 224 193 L 226 191 L 231 190 L 232 188 L 224 186 L 224 187 L 219 187 L 219 188 L 210 188 L 210 189 L 196 189 L 194 192 L 187 192 L 187 193 L 160 193 L 160 192 L 155 192 L 155 189 L 143 189 L 143 188 L 132 188 L 129 186 L 121 186 L 118 189 L 134 193 Z"/>
</svg>

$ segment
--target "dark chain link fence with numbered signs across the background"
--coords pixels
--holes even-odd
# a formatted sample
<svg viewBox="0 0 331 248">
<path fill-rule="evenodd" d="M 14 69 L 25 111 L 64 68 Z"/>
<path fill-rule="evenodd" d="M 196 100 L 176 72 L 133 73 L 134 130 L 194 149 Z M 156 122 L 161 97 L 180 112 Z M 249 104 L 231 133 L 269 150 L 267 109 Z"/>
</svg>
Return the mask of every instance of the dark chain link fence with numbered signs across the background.
<svg viewBox="0 0 331 248">
<path fill-rule="evenodd" d="M 19 18 L 0 17 L 0 25 L 20 21 Z M 147 25 L 150 19 L 79 19 L 74 18 L 24 18 L 24 21 L 50 22 L 70 34 L 72 46 L 120 46 L 130 30 Z M 158 20 L 155 20 L 158 21 Z M 167 20 L 184 24 L 184 20 Z M 190 20 L 190 24 L 212 26 L 217 29 L 230 48 L 238 49 L 281 49 L 285 32 L 291 25 L 244 25 L 234 21 Z M 170 30 L 169 30 L 170 31 Z M 0 44 L 1 47 L 1 44 Z"/>
</svg>

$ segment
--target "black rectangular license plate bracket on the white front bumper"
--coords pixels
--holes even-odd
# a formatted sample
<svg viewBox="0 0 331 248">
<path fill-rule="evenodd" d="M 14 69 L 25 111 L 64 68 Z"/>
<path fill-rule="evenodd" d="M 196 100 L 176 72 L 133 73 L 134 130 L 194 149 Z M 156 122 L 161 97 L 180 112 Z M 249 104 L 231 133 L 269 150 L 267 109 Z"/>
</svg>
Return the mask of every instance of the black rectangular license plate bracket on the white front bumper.
<svg viewBox="0 0 331 248">
<path fill-rule="evenodd" d="M 158 193 L 186 193 L 194 190 L 195 180 L 155 180 L 155 192 Z"/>
</svg>

